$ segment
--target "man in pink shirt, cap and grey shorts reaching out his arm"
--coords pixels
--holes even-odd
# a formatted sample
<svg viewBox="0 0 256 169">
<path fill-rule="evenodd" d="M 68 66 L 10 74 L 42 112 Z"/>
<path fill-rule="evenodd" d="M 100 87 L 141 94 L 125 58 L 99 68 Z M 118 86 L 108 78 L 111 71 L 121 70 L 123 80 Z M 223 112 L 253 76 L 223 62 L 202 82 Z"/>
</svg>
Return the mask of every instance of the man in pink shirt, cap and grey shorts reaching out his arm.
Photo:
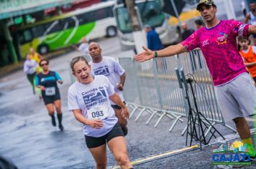
<svg viewBox="0 0 256 169">
<path fill-rule="evenodd" d="M 144 62 L 153 57 L 171 57 L 196 47 L 201 48 L 211 72 L 224 120 L 234 121 L 242 142 L 248 145 L 248 154 L 251 158 L 256 158 L 250 128 L 244 118 L 253 115 L 256 90 L 239 55 L 236 43 L 237 36 L 247 37 L 256 34 L 256 25 L 217 19 L 217 7 L 212 0 L 199 1 L 196 9 L 201 13 L 206 26 L 198 29 L 180 44 L 158 51 L 143 47 L 145 52 L 137 54 L 134 60 Z"/>
</svg>

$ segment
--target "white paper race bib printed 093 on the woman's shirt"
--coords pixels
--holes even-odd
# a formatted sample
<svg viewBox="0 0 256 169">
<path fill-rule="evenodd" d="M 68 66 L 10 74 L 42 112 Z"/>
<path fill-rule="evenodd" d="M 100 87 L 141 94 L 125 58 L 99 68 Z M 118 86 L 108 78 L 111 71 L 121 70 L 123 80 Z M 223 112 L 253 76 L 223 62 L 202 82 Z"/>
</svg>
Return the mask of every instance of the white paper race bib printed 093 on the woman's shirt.
<svg viewBox="0 0 256 169">
<path fill-rule="evenodd" d="M 89 120 L 104 120 L 109 117 L 109 111 L 106 105 L 91 107 L 87 110 Z"/>
</svg>

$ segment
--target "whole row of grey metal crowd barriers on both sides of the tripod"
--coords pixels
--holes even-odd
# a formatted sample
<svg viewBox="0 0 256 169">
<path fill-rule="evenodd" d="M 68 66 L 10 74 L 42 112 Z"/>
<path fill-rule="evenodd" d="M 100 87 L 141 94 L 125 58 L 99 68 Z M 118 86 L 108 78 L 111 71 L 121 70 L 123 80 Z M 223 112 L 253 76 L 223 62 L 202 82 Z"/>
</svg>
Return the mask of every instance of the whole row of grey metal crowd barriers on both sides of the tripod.
<svg viewBox="0 0 256 169">
<path fill-rule="evenodd" d="M 119 58 L 119 63 L 126 70 L 124 98 L 132 108 L 130 117 L 139 112 L 135 121 L 142 113 L 149 113 L 149 124 L 153 117 L 158 117 L 155 127 L 163 117 L 174 120 L 170 130 L 181 117 L 188 116 L 188 105 L 185 90 L 180 89 L 175 74 L 175 67 L 183 68 L 186 74 L 192 74 L 196 80 L 196 101 L 198 109 L 212 122 L 212 125 L 225 124 L 216 102 L 211 74 L 201 50 L 178 54 L 175 57 L 155 58 L 147 62 L 137 63 L 132 58 Z M 192 97 L 191 97 L 192 98 Z M 210 130 L 210 129 L 209 129 Z M 183 133 L 186 128 L 183 130 Z M 182 134 L 183 134 L 182 133 Z"/>
</svg>

